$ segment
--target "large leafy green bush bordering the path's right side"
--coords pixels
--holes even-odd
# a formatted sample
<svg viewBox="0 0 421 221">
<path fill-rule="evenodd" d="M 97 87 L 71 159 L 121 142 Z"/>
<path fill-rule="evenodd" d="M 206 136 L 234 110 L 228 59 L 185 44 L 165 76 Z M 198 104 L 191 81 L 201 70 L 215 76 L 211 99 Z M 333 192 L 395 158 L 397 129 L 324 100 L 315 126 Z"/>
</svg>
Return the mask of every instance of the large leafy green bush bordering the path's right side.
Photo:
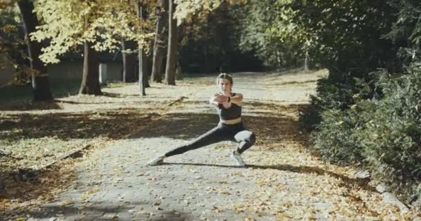
<svg viewBox="0 0 421 221">
<path fill-rule="evenodd" d="M 404 75 L 378 76 L 382 99 L 368 99 L 373 95 L 368 84 L 356 79 L 355 104 L 341 110 L 316 102 L 323 109 L 313 148 L 323 160 L 365 166 L 410 204 L 421 194 L 421 66 L 412 65 Z"/>
</svg>

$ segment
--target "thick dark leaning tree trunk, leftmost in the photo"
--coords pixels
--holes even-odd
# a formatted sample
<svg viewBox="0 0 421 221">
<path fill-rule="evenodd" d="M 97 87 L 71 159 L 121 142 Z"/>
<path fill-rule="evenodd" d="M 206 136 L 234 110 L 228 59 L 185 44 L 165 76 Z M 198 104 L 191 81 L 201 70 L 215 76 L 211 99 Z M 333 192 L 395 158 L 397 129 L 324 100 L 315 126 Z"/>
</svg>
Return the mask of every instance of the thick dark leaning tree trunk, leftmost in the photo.
<svg viewBox="0 0 421 221">
<path fill-rule="evenodd" d="M 29 33 L 35 31 L 35 27 L 39 25 L 37 16 L 33 13 L 34 4 L 30 0 L 18 1 L 19 10 L 21 11 L 22 21 L 24 21 L 24 34 L 26 44 L 28 44 L 28 55 L 30 57 L 30 68 L 32 68 L 32 88 L 33 101 L 46 101 L 53 99 L 50 90 L 50 81 L 48 79 L 47 68 L 39 59 L 42 44 L 30 41 Z"/>
</svg>

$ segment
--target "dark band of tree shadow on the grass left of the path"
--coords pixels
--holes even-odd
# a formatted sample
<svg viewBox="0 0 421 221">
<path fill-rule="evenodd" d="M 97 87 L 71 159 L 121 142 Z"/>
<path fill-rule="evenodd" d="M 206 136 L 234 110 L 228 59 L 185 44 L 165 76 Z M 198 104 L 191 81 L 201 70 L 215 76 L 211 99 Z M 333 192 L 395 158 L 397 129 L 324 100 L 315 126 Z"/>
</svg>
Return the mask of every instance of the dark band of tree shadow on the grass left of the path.
<svg viewBox="0 0 421 221">
<path fill-rule="evenodd" d="M 2 116 L 0 133 L 3 134 L 3 140 L 11 142 L 39 137 L 67 140 L 103 136 L 120 139 L 132 133 L 132 128 L 150 122 L 154 115 L 157 114 L 140 112 L 134 108 L 40 115 L 10 114 Z"/>
</svg>

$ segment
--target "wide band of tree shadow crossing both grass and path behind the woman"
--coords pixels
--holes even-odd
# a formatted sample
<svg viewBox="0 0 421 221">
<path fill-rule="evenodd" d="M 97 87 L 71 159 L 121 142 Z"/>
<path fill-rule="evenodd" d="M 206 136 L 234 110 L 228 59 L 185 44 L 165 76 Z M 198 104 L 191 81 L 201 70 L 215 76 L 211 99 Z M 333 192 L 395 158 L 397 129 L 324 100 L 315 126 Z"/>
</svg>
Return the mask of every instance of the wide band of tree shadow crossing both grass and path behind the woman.
<svg viewBox="0 0 421 221">
<path fill-rule="evenodd" d="M 244 113 L 244 125 L 256 133 L 259 144 L 293 140 L 300 142 L 296 119 L 277 113 L 264 113 L 269 110 L 282 110 L 297 113 L 299 106 L 276 106 L 275 104 L 248 104 L 254 110 Z M 256 106 L 256 108 L 254 108 Z M 262 108 L 260 108 L 260 106 Z M 179 107 L 183 111 L 183 106 Z M 264 110 L 263 110 L 264 111 Z M 217 126 L 216 113 L 170 113 L 154 120 L 157 113 L 145 113 L 135 108 L 120 108 L 113 111 L 87 111 L 81 113 L 48 114 L 6 114 L 2 115 L 0 133 L 4 140 L 14 141 L 39 137 L 57 137 L 67 139 L 89 139 L 98 136 L 120 139 L 133 133 L 132 128 L 147 125 L 141 131 L 130 135 L 138 137 L 171 137 L 174 139 L 192 139 Z"/>
</svg>

